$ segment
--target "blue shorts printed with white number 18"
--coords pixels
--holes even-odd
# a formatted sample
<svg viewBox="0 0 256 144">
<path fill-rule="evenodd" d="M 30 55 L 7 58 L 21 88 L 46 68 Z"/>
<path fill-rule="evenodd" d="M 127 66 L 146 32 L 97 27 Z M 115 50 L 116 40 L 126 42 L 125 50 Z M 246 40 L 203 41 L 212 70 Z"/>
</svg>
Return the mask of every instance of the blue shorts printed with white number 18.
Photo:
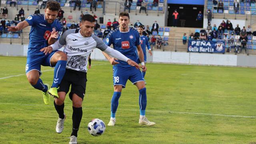
<svg viewBox="0 0 256 144">
<path fill-rule="evenodd" d="M 113 83 L 115 85 L 121 85 L 125 88 L 127 80 L 130 80 L 132 84 L 136 82 L 145 81 L 140 70 L 136 69 L 134 66 L 132 67 L 121 67 L 114 66 L 113 67 Z"/>
</svg>

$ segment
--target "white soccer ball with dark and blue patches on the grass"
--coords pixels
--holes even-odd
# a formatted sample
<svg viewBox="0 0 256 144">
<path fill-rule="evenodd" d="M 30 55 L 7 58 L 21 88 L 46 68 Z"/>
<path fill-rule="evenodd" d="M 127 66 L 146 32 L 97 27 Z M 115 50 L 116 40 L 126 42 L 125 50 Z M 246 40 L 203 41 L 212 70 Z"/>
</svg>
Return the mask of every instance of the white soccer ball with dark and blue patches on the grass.
<svg viewBox="0 0 256 144">
<path fill-rule="evenodd" d="M 98 118 L 92 119 L 88 124 L 88 132 L 93 136 L 102 135 L 105 129 L 105 123 Z"/>
</svg>

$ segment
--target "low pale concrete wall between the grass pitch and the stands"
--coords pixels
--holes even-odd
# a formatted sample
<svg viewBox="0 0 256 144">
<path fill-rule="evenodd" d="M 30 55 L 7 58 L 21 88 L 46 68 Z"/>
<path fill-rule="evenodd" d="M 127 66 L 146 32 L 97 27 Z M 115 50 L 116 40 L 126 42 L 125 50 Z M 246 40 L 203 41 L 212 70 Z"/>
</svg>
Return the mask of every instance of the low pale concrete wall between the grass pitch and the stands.
<svg viewBox="0 0 256 144">
<path fill-rule="evenodd" d="M 0 55 L 3 56 L 26 56 L 28 45 L 0 44 Z M 106 60 L 101 50 L 94 49 L 91 58 L 93 60 Z M 256 68 L 256 55 L 234 54 L 208 54 L 193 52 L 161 52 L 153 51 L 150 56 L 147 51 L 147 61 L 154 63 L 174 64 L 198 64 L 216 66 L 246 66 Z"/>
</svg>

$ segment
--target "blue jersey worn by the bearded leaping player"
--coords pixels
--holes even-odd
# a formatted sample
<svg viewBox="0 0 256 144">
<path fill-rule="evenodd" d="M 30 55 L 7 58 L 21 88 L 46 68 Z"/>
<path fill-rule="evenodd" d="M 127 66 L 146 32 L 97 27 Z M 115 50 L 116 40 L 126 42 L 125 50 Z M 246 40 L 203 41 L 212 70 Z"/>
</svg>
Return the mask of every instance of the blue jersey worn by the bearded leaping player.
<svg viewBox="0 0 256 144">
<path fill-rule="evenodd" d="M 48 46 L 48 39 L 53 29 L 62 32 L 62 24 L 56 19 L 49 24 L 45 20 L 44 14 L 33 14 L 26 21 L 31 26 L 29 33 L 28 55 L 40 55 L 41 48 Z"/>
</svg>

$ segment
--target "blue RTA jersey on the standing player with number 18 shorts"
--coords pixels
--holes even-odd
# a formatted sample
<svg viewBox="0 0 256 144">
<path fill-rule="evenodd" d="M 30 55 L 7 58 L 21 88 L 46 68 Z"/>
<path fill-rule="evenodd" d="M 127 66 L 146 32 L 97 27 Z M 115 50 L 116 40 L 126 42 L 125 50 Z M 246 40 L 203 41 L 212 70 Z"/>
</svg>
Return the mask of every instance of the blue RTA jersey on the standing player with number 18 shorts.
<svg viewBox="0 0 256 144">
<path fill-rule="evenodd" d="M 120 32 L 119 28 L 116 28 L 108 34 L 105 43 L 108 46 L 113 44 L 115 50 L 118 50 L 133 61 L 138 59 L 136 51 L 137 46 L 140 45 L 140 35 L 133 27 L 129 27 L 128 32 Z M 121 60 L 118 60 L 118 62 L 119 64 L 115 66 L 130 67 L 127 62 Z"/>
</svg>

